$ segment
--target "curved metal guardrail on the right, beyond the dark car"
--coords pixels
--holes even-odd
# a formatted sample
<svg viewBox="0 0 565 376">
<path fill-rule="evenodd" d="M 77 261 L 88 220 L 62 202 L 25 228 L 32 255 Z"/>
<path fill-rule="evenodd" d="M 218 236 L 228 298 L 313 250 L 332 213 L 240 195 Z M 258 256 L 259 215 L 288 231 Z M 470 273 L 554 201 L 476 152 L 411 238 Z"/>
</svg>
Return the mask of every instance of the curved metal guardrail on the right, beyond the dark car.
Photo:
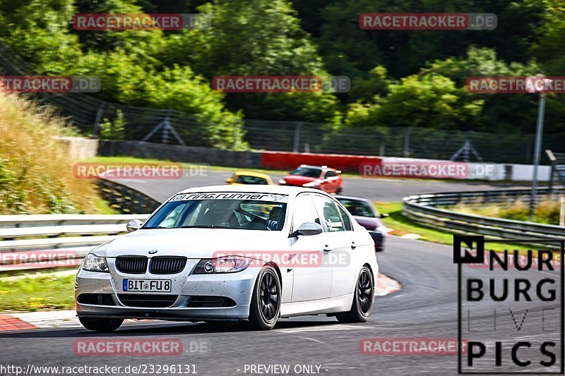
<svg viewBox="0 0 565 376">
<path fill-rule="evenodd" d="M 564 189 L 542 188 L 536 200 L 547 199 L 564 194 Z M 529 197 L 530 190 L 491 190 L 458 193 L 431 193 L 412 195 L 403 200 L 403 214 L 424 226 L 442 229 L 457 234 L 478 234 L 491 238 L 506 239 L 558 239 L 565 238 L 565 227 L 535 222 L 522 222 L 511 219 L 482 217 L 448 210 L 460 202 L 474 205 L 511 205 L 522 197 Z M 446 208 L 443 208 L 446 207 Z M 547 246 L 547 245 L 546 245 Z"/>
</svg>

